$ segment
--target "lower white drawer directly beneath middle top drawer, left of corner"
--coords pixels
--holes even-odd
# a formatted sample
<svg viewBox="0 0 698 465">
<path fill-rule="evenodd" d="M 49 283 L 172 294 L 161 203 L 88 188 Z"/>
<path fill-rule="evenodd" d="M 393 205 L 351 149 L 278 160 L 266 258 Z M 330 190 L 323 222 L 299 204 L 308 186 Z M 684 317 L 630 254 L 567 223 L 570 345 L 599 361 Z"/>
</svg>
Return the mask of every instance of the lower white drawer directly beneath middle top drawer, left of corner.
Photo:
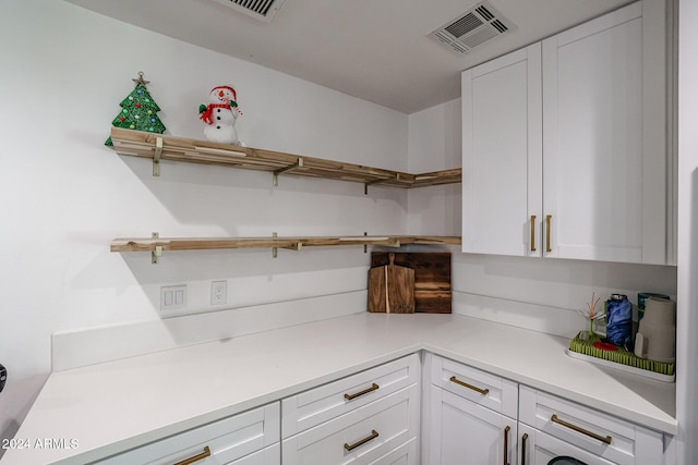
<svg viewBox="0 0 698 465">
<path fill-rule="evenodd" d="M 414 383 L 285 439 L 281 443 L 284 463 L 368 464 L 416 438 L 418 423 L 419 384 Z"/>
</svg>

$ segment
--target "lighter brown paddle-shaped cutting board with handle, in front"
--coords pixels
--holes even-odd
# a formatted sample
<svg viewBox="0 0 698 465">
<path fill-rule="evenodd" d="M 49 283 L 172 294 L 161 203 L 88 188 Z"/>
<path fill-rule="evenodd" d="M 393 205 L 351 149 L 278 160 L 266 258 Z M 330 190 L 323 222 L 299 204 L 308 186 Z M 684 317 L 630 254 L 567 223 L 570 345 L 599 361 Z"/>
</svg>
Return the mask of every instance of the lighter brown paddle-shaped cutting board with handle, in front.
<svg viewBox="0 0 698 465">
<path fill-rule="evenodd" d="M 386 314 L 414 313 L 414 270 L 388 264 L 369 270 L 369 311 Z"/>
</svg>

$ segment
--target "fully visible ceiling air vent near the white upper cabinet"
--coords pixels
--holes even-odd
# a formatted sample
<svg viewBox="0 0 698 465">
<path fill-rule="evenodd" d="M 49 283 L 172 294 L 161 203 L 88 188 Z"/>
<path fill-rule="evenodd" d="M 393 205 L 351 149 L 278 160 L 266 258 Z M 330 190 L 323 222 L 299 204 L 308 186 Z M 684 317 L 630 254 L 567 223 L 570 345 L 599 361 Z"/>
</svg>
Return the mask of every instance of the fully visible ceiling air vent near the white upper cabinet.
<svg viewBox="0 0 698 465">
<path fill-rule="evenodd" d="M 516 29 L 514 23 L 504 17 L 489 2 L 481 1 L 432 32 L 430 36 L 452 50 L 465 54 L 488 40 L 514 29 Z"/>
</svg>

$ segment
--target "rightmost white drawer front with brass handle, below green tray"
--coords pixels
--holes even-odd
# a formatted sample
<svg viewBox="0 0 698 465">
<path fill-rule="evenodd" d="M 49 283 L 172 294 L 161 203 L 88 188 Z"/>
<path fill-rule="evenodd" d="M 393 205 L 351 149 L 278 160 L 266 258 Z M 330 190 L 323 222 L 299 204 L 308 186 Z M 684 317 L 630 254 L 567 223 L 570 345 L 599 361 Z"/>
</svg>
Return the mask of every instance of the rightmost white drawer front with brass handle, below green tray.
<svg viewBox="0 0 698 465">
<path fill-rule="evenodd" d="M 661 463 L 662 433 L 528 387 L 519 420 L 616 464 Z M 654 458 L 652 458 L 654 457 Z M 653 460 L 655 462 L 653 462 Z"/>
</svg>

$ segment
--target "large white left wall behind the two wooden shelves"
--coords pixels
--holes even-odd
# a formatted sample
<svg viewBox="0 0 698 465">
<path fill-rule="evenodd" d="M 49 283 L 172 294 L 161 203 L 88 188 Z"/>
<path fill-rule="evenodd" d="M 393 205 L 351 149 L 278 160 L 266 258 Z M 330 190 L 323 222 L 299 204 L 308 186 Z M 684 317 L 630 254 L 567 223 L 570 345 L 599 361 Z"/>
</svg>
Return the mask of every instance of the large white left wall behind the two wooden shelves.
<svg viewBox="0 0 698 465">
<path fill-rule="evenodd" d="M 120 236 L 405 232 L 407 194 L 354 183 L 119 157 L 103 144 L 139 71 L 167 134 L 203 138 L 200 103 L 233 85 L 249 146 L 407 169 L 407 115 L 51 0 L 0 3 L 0 432 L 12 435 L 51 368 L 56 331 L 157 321 L 159 287 L 192 310 L 365 290 L 361 248 L 112 254 Z M 217 308 L 215 308 L 217 309 Z M 361 311 L 362 308 L 347 308 Z M 336 315 L 336 313 L 335 313 Z M 254 326 L 254 325 L 251 325 Z M 192 332 L 196 328 L 192 328 Z"/>
</svg>

